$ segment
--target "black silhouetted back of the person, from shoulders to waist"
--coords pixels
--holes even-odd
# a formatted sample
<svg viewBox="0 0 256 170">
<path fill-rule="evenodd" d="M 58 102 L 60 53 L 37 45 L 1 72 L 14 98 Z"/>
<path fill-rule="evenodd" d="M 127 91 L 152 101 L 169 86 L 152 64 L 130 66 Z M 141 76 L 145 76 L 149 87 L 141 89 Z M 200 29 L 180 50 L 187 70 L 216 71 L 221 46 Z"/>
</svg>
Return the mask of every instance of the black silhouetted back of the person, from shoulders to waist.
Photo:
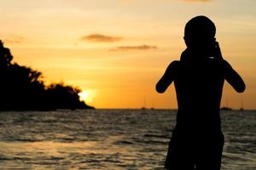
<svg viewBox="0 0 256 170">
<path fill-rule="evenodd" d="M 224 75 L 218 65 L 216 60 L 177 63 L 174 80 L 178 105 L 177 127 L 188 130 L 197 128 L 196 132 L 207 127 L 218 130 L 218 110 L 224 84 Z"/>
</svg>

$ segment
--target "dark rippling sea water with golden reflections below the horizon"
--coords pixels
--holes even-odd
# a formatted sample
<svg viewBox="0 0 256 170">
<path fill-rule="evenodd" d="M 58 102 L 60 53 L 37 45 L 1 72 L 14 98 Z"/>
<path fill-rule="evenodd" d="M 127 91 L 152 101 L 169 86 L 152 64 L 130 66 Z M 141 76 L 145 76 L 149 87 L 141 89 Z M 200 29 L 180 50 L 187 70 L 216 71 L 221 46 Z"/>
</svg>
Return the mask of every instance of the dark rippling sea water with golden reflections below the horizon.
<svg viewBox="0 0 256 170">
<path fill-rule="evenodd" d="M 256 169 L 256 111 L 222 111 L 223 170 Z M 0 112 L 0 169 L 164 169 L 171 110 Z"/>
</svg>

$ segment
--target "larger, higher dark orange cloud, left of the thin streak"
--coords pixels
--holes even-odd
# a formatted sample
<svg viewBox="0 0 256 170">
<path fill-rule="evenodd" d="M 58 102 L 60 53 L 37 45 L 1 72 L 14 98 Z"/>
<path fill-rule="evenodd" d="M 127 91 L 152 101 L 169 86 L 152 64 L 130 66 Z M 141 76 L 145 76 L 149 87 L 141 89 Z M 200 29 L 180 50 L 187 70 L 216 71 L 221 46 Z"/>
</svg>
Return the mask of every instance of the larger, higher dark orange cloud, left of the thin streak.
<svg viewBox="0 0 256 170">
<path fill-rule="evenodd" d="M 80 37 L 80 40 L 89 42 L 117 42 L 121 39 L 121 37 L 105 36 L 102 34 L 90 34 L 88 36 Z"/>
</svg>

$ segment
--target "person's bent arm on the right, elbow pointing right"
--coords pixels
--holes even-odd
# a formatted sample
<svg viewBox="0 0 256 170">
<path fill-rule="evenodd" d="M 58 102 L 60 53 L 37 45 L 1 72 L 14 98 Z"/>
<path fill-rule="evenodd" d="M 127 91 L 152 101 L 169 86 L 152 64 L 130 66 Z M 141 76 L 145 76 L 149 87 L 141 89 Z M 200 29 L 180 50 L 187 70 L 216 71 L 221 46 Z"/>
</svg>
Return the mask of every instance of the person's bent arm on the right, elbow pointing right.
<svg viewBox="0 0 256 170">
<path fill-rule="evenodd" d="M 246 85 L 241 79 L 240 75 L 231 67 L 231 65 L 224 60 L 224 78 L 238 93 L 242 93 Z"/>
</svg>

